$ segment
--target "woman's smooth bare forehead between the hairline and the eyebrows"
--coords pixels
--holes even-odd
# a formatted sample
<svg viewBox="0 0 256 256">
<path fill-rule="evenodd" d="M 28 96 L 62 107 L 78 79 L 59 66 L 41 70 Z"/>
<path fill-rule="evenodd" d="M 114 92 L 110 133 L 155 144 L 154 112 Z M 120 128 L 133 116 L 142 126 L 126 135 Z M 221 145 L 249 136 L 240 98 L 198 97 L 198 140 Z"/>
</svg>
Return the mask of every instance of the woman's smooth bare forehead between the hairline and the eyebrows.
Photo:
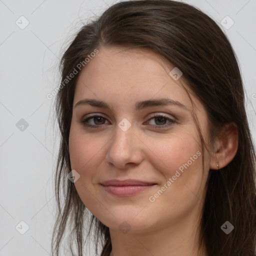
<svg viewBox="0 0 256 256">
<path fill-rule="evenodd" d="M 175 66 L 147 49 L 100 48 L 81 70 L 74 104 L 84 97 L 109 102 L 115 107 L 151 98 L 171 98 L 191 106 L 181 83 L 169 74 Z M 196 99 L 194 99 L 196 101 Z M 195 102 L 200 104 L 197 100 Z"/>
</svg>

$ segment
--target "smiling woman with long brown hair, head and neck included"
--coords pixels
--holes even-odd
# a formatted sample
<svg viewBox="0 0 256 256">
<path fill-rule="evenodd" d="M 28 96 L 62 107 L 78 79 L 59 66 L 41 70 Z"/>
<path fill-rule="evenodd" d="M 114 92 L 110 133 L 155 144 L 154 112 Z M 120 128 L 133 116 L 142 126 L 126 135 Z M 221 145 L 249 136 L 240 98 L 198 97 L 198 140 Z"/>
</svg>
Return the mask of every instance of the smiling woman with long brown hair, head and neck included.
<svg viewBox="0 0 256 256">
<path fill-rule="evenodd" d="M 255 254 L 243 86 L 211 18 L 171 0 L 119 2 L 80 29 L 61 67 L 53 255 L 65 232 L 84 255 L 87 223 L 101 256 Z"/>
</svg>

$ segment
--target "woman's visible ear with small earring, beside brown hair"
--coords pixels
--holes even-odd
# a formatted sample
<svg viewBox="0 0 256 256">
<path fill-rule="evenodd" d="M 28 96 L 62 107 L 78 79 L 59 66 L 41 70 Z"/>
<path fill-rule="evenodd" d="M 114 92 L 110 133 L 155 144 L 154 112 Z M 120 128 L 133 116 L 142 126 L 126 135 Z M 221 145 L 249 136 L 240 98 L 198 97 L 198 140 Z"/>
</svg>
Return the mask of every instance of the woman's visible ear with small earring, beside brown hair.
<svg viewBox="0 0 256 256">
<path fill-rule="evenodd" d="M 234 122 L 226 123 L 217 135 L 210 160 L 210 169 L 220 169 L 234 158 L 238 148 L 238 128 Z"/>
</svg>

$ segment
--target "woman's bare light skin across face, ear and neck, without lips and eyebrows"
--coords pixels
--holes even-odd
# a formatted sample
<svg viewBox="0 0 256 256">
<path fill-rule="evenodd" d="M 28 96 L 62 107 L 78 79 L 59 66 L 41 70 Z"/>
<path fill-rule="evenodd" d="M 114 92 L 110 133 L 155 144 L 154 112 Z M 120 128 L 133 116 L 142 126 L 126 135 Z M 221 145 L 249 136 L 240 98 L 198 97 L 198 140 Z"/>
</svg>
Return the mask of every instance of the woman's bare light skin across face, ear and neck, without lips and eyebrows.
<svg viewBox="0 0 256 256">
<path fill-rule="evenodd" d="M 69 134 L 71 167 L 80 177 L 77 192 L 102 223 L 109 227 L 114 256 L 197 256 L 200 212 L 209 168 L 217 169 L 234 157 L 237 141 L 234 125 L 225 128 L 229 136 L 216 140 L 205 151 L 205 169 L 199 135 L 191 116 L 191 102 L 181 86 L 181 76 L 168 74 L 174 65 L 149 50 L 99 48 L 81 70 L 76 84 Z M 111 109 L 75 104 L 93 98 L 107 102 Z M 135 102 L 171 98 L 186 106 L 148 106 L 136 110 Z M 208 141 L 207 114 L 200 101 L 195 103 L 202 135 Z M 87 123 L 89 114 L 102 119 Z M 154 119 L 154 114 L 174 120 Z M 118 124 L 126 118 L 131 126 L 123 131 Z M 159 118 L 158 118 L 159 119 Z M 159 128 L 159 126 L 166 126 Z M 126 125 L 126 124 L 125 124 Z M 154 128 L 155 126 L 158 126 Z M 149 200 L 182 164 L 194 160 L 155 200 Z M 190 163 L 190 161 L 189 161 Z M 99 184 L 109 179 L 153 181 L 155 186 L 132 196 L 109 194 Z M 152 197 L 151 197 L 152 198 Z M 125 223 L 123 223 L 125 221 Z M 122 223 L 122 224 L 121 224 Z M 126 227 L 124 232 L 120 227 Z"/>
</svg>

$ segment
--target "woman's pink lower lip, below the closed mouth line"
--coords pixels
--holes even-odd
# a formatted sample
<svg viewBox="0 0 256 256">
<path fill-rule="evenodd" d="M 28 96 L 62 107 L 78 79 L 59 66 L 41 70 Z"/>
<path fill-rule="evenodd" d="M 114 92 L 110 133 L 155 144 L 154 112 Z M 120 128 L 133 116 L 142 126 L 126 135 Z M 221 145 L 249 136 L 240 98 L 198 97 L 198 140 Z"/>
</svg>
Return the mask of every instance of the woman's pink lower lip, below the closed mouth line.
<svg viewBox="0 0 256 256">
<path fill-rule="evenodd" d="M 103 187 L 110 194 L 128 196 L 128 195 L 134 195 L 134 194 L 143 192 L 146 189 L 153 187 L 154 185 L 155 184 L 152 184 L 152 185 L 128 185 L 128 186 L 113 186 L 113 185 L 104 186 L 103 185 Z"/>
</svg>

